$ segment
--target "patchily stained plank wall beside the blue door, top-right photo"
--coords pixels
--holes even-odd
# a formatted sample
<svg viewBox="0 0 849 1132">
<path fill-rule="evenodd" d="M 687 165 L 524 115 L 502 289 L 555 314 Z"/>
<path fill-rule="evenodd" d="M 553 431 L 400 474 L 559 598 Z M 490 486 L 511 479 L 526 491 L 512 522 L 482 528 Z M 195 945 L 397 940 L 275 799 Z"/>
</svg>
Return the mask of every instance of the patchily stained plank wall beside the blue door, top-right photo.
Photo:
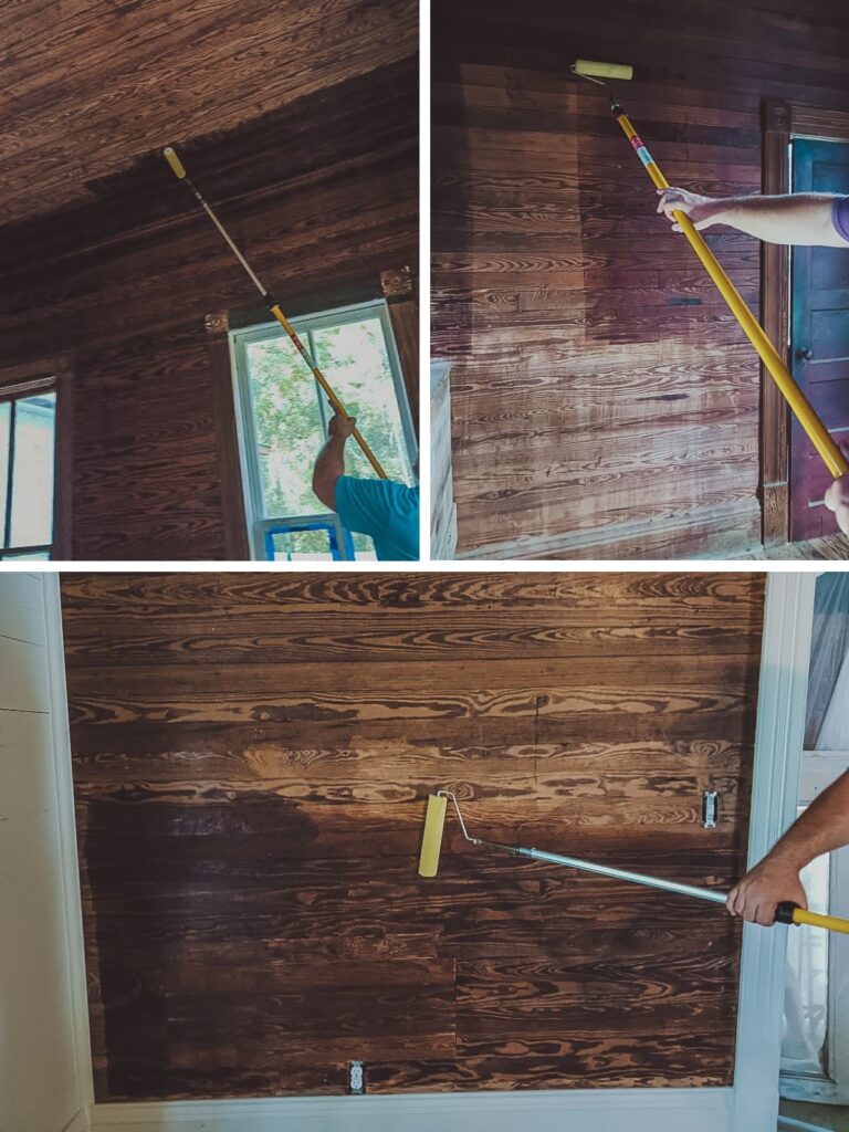
<svg viewBox="0 0 849 1132">
<path fill-rule="evenodd" d="M 764 97 L 849 109 L 838 0 L 434 3 L 434 348 L 460 550 L 726 555 L 760 539 L 758 365 L 575 58 L 672 185 L 761 187 Z M 707 242 L 756 310 L 757 243 Z"/>
</svg>

